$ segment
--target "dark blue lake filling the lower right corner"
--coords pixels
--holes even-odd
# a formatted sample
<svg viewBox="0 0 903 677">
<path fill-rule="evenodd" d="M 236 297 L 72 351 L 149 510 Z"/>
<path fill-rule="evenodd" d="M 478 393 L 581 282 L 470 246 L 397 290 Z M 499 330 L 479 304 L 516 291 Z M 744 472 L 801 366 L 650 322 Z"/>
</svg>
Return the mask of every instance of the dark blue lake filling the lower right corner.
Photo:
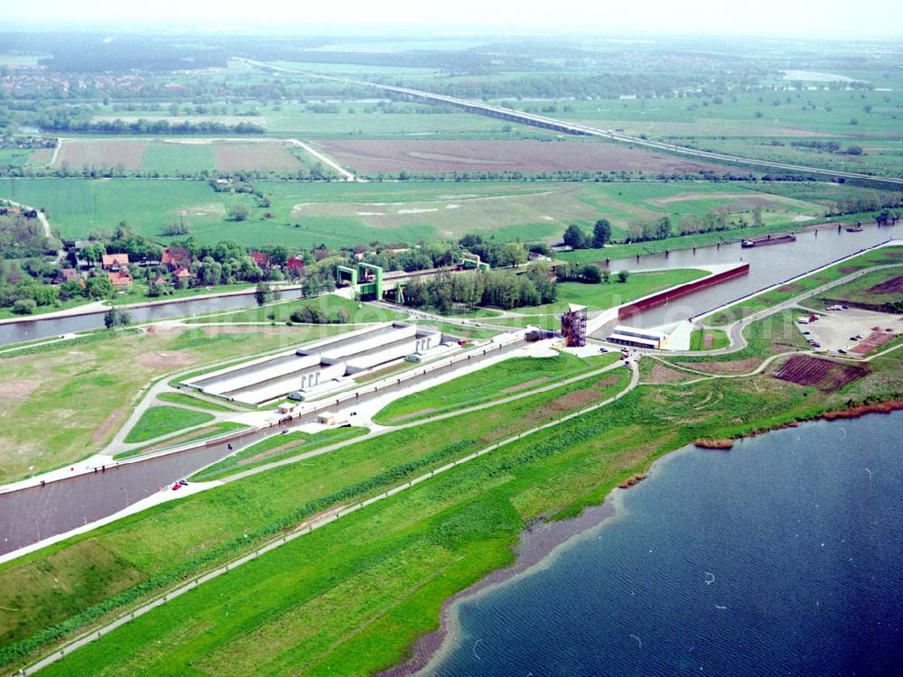
<svg viewBox="0 0 903 677">
<path fill-rule="evenodd" d="M 423 674 L 900 674 L 901 431 L 873 414 L 679 450 L 452 607 Z"/>
</svg>

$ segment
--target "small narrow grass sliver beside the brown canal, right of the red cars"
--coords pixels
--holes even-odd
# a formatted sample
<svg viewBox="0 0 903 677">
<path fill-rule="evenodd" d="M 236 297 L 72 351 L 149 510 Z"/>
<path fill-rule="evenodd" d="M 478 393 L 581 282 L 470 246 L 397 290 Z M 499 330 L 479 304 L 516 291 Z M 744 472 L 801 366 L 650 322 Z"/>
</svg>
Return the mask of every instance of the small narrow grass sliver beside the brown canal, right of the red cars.
<svg viewBox="0 0 903 677">
<path fill-rule="evenodd" d="M 337 428 L 321 432 L 290 432 L 285 435 L 275 435 L 237 454 L 222 459 L 209 468 L 204 468 L 191 476 L 192 482 L 207 482 L 211 479 L 221 479 L 244 472 L 251 468 L 272 463 L 277 460 L 288 459 L 308 451 L 322 449 L 331 444 L 348 441 L 369 432 L 367 428 L 358 426 L 350 428 Z"/>
</svg>

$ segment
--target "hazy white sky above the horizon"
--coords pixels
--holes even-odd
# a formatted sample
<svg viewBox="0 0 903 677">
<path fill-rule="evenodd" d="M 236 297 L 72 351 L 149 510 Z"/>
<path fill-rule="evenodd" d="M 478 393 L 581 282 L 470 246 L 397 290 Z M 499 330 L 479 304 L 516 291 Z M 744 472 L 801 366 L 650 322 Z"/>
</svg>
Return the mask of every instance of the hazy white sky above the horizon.
<svg viewBox="0 0 903 677">
<path fill-rule="evenodd" d="M 348 26 L 379 32 L 430 26 L 491 32 L 579 30 L 604 33 L 720 33 L 735 35 L 900 36 L 903 0 L 42 0 L 8 3 L 4 23 L 177 23 L 218 30 L 275 24 L 285 32 Z M 567 11 L 563 11 L 564 9 Z M 3 30 L 0 28 L 0 30 Z"/>
</svg>

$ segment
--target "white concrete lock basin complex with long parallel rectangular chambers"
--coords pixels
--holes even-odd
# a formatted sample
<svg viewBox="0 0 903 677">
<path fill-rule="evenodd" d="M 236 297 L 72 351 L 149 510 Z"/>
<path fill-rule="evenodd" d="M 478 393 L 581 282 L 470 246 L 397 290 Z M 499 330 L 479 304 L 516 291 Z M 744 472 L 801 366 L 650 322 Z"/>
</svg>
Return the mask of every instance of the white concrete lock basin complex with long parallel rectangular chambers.
<svg viewBox="0 0 903 677">
<path fill-rule="evenodd" d="M 386 322 L 326 338 L 273 357 L 221 369 L 185 381 L 206 394 L 259 405 L 292 395 L 309 400 L 354 385 L 355 376 L 417 356 L 416 361 L 457 349 L 442 333 L 413 324 Z"/>
</svg>

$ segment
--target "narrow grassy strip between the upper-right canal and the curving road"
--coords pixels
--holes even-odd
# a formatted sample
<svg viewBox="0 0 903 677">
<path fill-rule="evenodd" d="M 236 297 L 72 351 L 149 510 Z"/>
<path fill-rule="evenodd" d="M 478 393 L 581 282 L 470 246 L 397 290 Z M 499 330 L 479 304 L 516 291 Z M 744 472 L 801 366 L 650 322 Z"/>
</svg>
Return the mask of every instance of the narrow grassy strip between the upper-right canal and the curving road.
<svg viewBox="0 0 903 677">
<path fill-rule="evenodd" d="M 706 319 L 706 324 L 712 326 L 731 324 L 756 312 L 764 311 L 777 303 L 789 301 L 801 293 L 822 286 L 824 283 L 839 280 L 863 268 L 870 268 L 876 265 L 903 264 L 903 258 L 901 257 L 903 257 L 903 246 L 885 246 L 859 256 L 853 256 L 839 264 L 834 264 L 817 273 L 806 275 L 792 283 L 777 287 L 777 289 L 770 292 L 753 296 L 746 301 L 741 301 L 730 308 L 717 312 Z"/>
</svg>

